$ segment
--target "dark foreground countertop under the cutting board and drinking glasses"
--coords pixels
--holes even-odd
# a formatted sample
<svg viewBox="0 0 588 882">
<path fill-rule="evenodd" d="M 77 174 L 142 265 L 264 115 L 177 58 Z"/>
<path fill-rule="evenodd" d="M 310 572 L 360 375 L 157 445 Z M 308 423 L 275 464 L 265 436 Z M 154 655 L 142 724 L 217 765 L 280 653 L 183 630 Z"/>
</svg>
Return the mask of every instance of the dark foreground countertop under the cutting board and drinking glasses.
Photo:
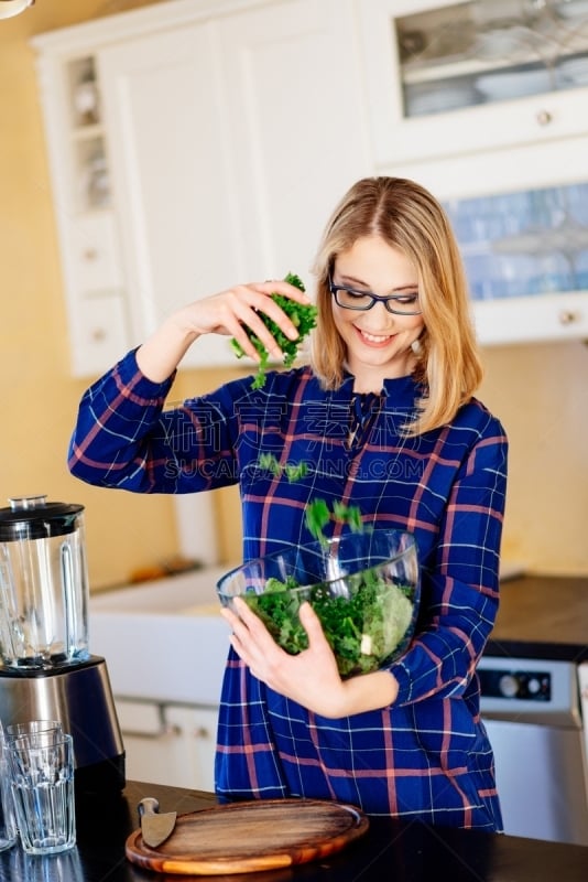
<svg viewBox="0 0 588 882">
<path fill-rule="evenodd" d="M 130 782 L 122 796 L 76 807 L 78 843 L 61 856 L 29 858 L 19 847 L 0 852 L 1 882 L 181 882 L 205 879 L 142 870 L 124 857 L 138 827 L 137 804 L 155 796 L 178 814 L 215 804 L 210 794 Z M 427 827 L 372 818 L 364 837 L 328 859 L 294 868 L 222 876 L 226 882 L 586 882 L 588 848 L 478 830 Z"/>
</svg>

